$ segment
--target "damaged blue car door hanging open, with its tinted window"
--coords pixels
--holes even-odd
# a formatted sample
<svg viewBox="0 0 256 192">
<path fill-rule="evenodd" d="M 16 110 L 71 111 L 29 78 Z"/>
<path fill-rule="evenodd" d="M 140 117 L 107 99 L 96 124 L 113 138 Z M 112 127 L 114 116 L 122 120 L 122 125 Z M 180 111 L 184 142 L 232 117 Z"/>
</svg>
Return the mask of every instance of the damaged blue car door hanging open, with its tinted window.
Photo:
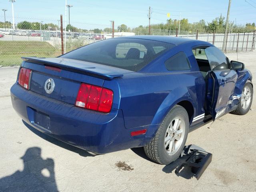
<svg viewBox="0 0 256 192">
<path fill-rule="evenodd" d="M 206 77 L 206 109 L 215 120 L 232 110 L 238 74 L 230 69 L 228 58 L 218 48 L 208 47 L 205 54 L 211 68 Z"/>
</svg>

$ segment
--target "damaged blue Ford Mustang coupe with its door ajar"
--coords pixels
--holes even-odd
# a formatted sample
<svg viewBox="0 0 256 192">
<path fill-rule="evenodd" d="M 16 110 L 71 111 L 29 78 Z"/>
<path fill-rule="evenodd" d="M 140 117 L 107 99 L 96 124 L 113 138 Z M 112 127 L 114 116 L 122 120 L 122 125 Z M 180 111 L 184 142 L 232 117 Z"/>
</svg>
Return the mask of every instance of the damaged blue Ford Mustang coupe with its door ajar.
<svg viewBox="0 0 256 192">
<path fill-rule="evenodd" d="M 144 146 L 176 160 L 188 132 L 252 104 L 252 75 L 210 43 L 112 38 L 57 58 L 24 57 L 12 105 L 37 130 L 90 152 Z"/>
</svg>

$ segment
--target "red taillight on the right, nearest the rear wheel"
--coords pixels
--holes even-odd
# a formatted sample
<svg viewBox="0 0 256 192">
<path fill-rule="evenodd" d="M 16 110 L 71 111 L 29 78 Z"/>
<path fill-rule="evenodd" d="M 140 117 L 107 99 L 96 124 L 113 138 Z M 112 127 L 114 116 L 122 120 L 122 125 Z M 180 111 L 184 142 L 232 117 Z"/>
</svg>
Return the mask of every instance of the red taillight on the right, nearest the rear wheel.
<svg viewBox="0 0 256 192">
<path fill-rule="evenodd" d="M 108 113 L 112 108 L 113 91 L 95 85 L 80 85 L 75 106 Z"/>
</svg>

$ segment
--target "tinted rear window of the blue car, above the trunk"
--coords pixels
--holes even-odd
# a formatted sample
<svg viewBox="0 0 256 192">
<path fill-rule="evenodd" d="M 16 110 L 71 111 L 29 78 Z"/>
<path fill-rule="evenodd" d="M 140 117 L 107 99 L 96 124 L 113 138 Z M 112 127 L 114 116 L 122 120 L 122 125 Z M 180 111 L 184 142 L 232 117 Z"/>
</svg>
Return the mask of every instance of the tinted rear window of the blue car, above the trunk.
<svg viewBox="0 0 256 192">
<path fill-rule="evenodd" d="M 88 44 L 60 57 L 138 71 L 174 46 L 154 40 L 112 38 Z"/>
</svg>

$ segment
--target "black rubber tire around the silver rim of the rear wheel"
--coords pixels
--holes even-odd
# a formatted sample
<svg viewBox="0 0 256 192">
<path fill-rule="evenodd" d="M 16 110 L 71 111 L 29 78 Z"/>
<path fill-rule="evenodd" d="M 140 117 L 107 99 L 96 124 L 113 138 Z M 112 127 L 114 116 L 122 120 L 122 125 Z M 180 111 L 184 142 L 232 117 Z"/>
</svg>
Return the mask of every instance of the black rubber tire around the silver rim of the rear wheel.
<svg viewBox="0 0 256 192">
<path fill-rule="evenodd" d="M 166 137 L 166 131 L 168 129 L 168 126 L 176 117 L 181 117 L 184 120 L 184 125 L 185 125 L 184 136 L 176 152 L 174 154 L 168 154 L 164 146 L 164 140 Z M 144 152 L 146 156 L 148 156 L 148 158 L 150 158 L 154 162 L 157 162 L 163 165 L 167 165 L 175 161 L 180 156 L 185 146 L 185 143 L 188 137 L 188 129 L 189 129 L 189 118 L 188 118 L 187 111 L 182 106 L 179 106 L 179 105 L 174 106 L 170 110 L 170 112 L 168 112 L 162 124 L 160 124 L 160 127 L 158 128 L 158 131 L 156 132 L 156 135 L 154 136 L 154 138 L 146 146 L 144 146 Z"/>
</svg>

